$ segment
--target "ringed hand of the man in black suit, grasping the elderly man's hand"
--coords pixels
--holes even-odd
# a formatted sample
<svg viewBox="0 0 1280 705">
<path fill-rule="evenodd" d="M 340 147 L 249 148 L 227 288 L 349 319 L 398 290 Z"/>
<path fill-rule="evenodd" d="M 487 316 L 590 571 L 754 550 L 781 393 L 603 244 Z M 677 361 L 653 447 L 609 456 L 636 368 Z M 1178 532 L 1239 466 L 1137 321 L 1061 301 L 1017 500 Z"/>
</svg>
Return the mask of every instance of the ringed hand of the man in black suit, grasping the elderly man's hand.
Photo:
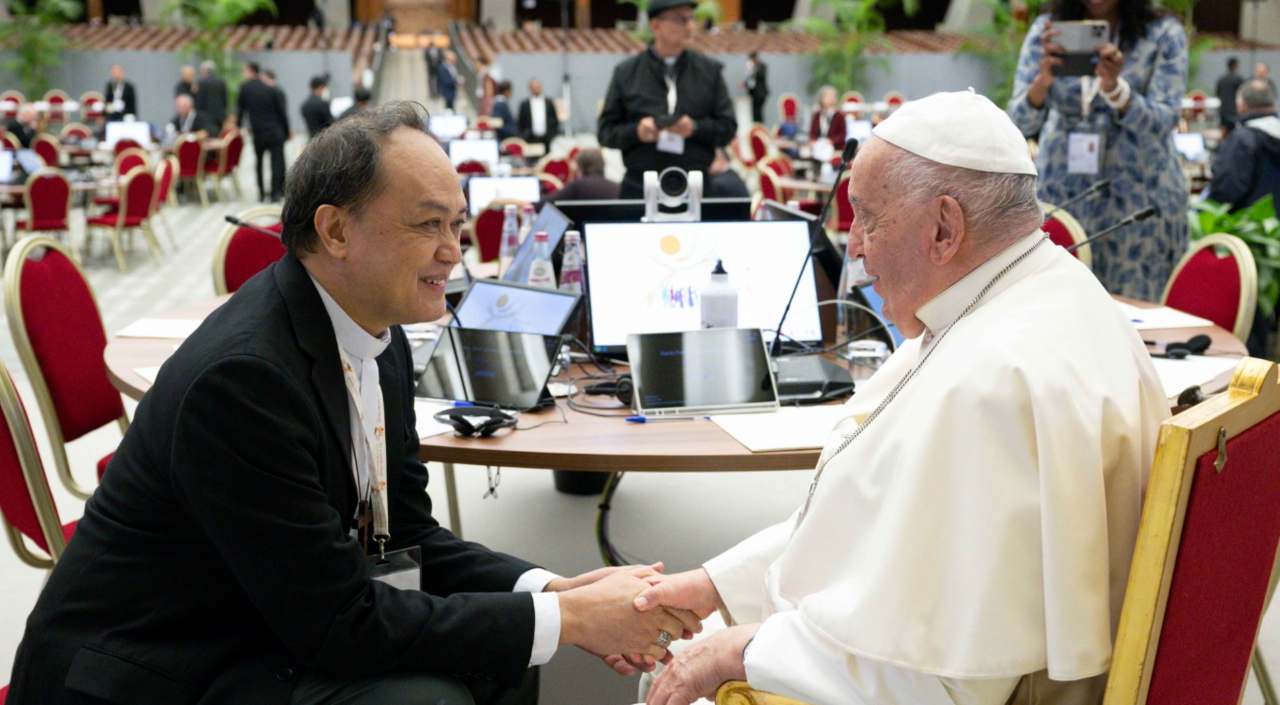
<svg viewBox="0 0 1280 705">
<path fill-rule="evenodd" d="M 591 654 L 644 654 L 663 659 L 667 649 L 657 646 L 659 632 L 680 638 L 685 623 L 664 609 L 640 612 L 632 605 L 649 583 L 625 572 L 591 585 L 559 592 L 561 644 L 580 646 Z"/>
</svg>

